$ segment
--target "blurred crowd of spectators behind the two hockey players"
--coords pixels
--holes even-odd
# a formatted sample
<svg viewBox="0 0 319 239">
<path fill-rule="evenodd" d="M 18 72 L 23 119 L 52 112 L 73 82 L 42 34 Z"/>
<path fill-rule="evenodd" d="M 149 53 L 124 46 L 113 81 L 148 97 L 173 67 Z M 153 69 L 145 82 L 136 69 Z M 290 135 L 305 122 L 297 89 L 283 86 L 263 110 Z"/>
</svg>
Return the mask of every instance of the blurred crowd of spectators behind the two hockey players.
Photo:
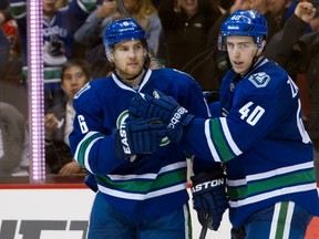
<svg viewBox="0 0 319 239">
<path fill-rule="evenodd" d="M 285 67 L 302 91 L 303 121 L 319 168 L 319 15 L 302 11 L 317 11 L 319 0 L 123 0 L 125 9 L 121 2 L 42 0 L 48 174 L 85 174 L 69 148 L 72 100 L 88 81 L 112 73 L 103 45 L 112 20 L 128 14 L 144 28 L 158 63 L 154 67 L 186 72 L 203 92 L 215 92 L 230 67 L 218 51 L 219 27 L 239 9 L 256 9 L 266 17 L 265 55 Z M 0 1 L 0 176 L 28 175 L 30 165 L 27 19 L 27 0 Z"/>
</svg>

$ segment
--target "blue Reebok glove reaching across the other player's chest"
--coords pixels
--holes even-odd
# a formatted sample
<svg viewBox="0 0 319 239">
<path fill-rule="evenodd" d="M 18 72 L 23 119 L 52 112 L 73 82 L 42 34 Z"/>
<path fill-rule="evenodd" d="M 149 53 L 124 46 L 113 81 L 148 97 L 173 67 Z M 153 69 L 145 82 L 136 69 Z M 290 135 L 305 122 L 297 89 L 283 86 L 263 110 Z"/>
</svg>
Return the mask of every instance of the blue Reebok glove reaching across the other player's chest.
<svg viewBox="0 0 319 239">
<path fill-rule="evenodd" d="M 167 124 L 168 138 L 172 142 L 179 142 L 183 136 L 183 127 L 187 126 L 194 118 L 186 108 L 181 106 L 172 96 L 155 90 L 154 97 L 137 93 L 130 102 L 130 116 L 135 118 L 158 117 Z"/>
</svg>

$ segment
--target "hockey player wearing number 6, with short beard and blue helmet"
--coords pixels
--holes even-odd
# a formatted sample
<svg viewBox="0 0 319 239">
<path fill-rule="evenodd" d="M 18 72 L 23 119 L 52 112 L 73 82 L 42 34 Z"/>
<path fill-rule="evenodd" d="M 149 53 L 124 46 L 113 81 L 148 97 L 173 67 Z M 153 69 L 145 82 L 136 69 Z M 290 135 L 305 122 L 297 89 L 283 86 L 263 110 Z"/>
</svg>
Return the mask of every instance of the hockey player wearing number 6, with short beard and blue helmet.
<svg viewBox="0 0 319 239">
<path fill-rule="evenodd" d="M 115 70 L 76 93 L 74 129 L 69 137 L 74 158 L 91 173 L 86 183 L 97 191 L 88 237 L 192 238 L 185 154 L 164 138 L 165 124 L 154 118 L 150 127 L 141 128 L 145 121 L 131 122 L 127 107 L 136 92 L 151 94 L 160 89 L 192 114 L 207 117 L 202 90 L 185 73 L 147 67 L 146 34 L 133 19 L 111 22 L 104 45 Z M 215 176 L 224 183 L 219 163 L 203 160 L 194 168 L 204 169 L 218 172 Z M 214 226 L 218 227 L 228 201 L 223 184 L 214 191 L 218 202 Z"/>
</svg>

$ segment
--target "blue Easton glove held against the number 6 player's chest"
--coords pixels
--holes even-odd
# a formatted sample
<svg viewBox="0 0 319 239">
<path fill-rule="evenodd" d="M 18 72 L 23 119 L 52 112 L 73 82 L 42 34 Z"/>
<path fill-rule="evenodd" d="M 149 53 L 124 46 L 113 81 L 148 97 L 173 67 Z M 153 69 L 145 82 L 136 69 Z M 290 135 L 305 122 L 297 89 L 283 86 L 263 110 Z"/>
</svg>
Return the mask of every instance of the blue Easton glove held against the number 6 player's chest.
<svg viewBox="0 0 319 239">
<path fill-rule="evenodd" d="M 136 154 L 151 154 L 167 135 L 166 124 L 158 118 L 136 119 L 124 123 L 115 132 L 115 157 L 130 158 Z"/>
</svg>

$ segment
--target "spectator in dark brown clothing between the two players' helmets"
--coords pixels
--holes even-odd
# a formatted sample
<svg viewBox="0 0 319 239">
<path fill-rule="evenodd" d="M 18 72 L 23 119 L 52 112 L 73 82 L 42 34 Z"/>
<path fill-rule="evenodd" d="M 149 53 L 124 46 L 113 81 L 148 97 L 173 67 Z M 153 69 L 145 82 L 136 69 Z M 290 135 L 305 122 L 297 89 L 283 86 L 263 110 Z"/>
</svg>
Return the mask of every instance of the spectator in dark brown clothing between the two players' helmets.
<svg viewBox="0 0 319 239">
<path fill-rule="evenodd" d="M 216 90 L 219 83 L 206 74 L 202 64 L 208 31 L 222 15 L 214 0 L 161 0 L 158 8 L 164 41 L 166 65 L 191 74 L 203 90 Z"/>
</svg>

